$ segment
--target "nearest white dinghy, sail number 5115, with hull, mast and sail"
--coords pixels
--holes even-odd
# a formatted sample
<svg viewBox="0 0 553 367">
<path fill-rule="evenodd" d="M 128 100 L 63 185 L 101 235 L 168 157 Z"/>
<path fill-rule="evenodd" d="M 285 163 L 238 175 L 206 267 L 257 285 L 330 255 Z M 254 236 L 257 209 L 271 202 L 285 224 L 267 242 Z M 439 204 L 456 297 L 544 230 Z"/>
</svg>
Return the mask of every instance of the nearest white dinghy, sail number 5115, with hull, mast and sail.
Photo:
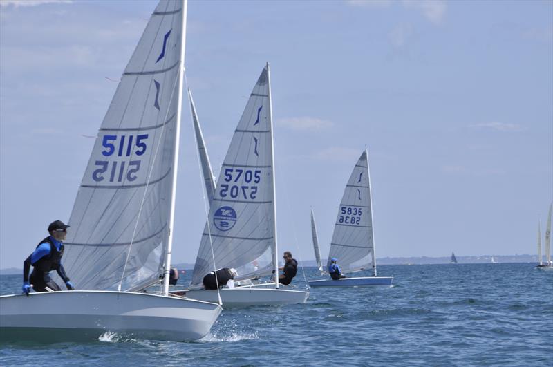
<svg viewBox="0 0 553 367">
<path fill-rule="evenodd" d="M 65 243 L 64 267 L 77 290 L 0 297 L 1 339 L 116 332 L 191 341 L 220 314 L 215 303 L 167 292 L 186 12 L 186 1 L 160 1 L 100 126 Z M 163 294 L 136 292 L 158 282 L 164 267 Z"/>
</svg>

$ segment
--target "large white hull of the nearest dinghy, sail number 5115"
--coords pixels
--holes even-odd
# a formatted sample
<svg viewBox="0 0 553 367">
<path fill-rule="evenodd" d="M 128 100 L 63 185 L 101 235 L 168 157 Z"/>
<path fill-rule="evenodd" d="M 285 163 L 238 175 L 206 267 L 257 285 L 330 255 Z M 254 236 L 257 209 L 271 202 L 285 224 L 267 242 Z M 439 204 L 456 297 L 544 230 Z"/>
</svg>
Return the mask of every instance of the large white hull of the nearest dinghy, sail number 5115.
<svg viewBox="0 0 553 367">
<path fill-rule="evenodd" d="M 222 308 L 182 297 L 108 291 L 61 291 L 0 297 L 4 341 L 97 340 L 104 332 L 138 339 L 204 337 Z"/>
</svg>

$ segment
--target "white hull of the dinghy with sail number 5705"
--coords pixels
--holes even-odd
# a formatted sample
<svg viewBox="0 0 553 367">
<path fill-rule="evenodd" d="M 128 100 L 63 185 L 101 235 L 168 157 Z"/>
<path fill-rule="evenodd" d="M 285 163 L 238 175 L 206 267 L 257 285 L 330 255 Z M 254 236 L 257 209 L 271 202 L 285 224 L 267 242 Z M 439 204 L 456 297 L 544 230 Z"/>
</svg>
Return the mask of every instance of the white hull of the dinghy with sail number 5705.
<svg viewBox="0 0 553 367">
<path fill-rule="evenodd" d="M 309 292 L 301 290 L 269 289 L 259 287 L 223 288 L 221 301 L 224 308 L 238 308 L 252 305 L 290 305 L 305 303 Z M 185 297 L 198 301 L 218 302 L 216 290 L 188 290 Z"/>
</svg>

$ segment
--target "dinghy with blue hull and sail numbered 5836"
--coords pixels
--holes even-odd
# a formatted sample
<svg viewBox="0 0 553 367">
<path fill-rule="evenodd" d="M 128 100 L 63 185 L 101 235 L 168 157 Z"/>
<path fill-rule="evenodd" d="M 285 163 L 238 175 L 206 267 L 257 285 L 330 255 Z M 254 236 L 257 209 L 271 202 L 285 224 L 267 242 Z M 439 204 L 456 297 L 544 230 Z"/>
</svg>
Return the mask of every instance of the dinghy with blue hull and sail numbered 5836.
<svg viewBox="0 0 553 367">
<path fill-rule="evenodd" d="M 327 266 L 331 258 L 338 258 L 342 273 L 359 272 L 372 266 L 373 276 L 309 281 L 311 287 L 392 284 L 392 276 L 377 276 L 376 273 L 372 206 L 368 153 L 365 150 L 353 168 L 341 199 Z"/>
</svg>

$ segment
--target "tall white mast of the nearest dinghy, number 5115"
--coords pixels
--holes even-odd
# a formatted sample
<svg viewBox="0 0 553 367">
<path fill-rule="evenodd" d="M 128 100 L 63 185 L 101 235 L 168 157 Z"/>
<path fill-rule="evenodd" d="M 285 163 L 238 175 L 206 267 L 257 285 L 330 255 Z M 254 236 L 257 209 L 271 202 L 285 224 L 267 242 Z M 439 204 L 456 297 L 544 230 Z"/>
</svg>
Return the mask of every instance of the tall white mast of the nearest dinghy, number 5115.
<svg viewBox="0 0 553 367">
<path fill-rule="evenodd" d="M 167 258 L 163 276 L 163 294 L 169 294 L 169 273 L 171 272 L 171 249 L 173 248 L 173 233 L 175 222 L 175 196 L 177 189 L 178 147 L 180 143 L 180 116 L 182 112 L 182 81 L 185 75 L 185 44 L 186 44 L 186 12 L 188 0 L 182 0 L 182 30 L 180 37 L 180 63 L 178 70 L 178 97 L 175 129 L 175 156 L 173 161 L 173 187 L 171 189 L 171 211 L 169 211 L 169 238 L 167 239 Z"/>
</svg>

